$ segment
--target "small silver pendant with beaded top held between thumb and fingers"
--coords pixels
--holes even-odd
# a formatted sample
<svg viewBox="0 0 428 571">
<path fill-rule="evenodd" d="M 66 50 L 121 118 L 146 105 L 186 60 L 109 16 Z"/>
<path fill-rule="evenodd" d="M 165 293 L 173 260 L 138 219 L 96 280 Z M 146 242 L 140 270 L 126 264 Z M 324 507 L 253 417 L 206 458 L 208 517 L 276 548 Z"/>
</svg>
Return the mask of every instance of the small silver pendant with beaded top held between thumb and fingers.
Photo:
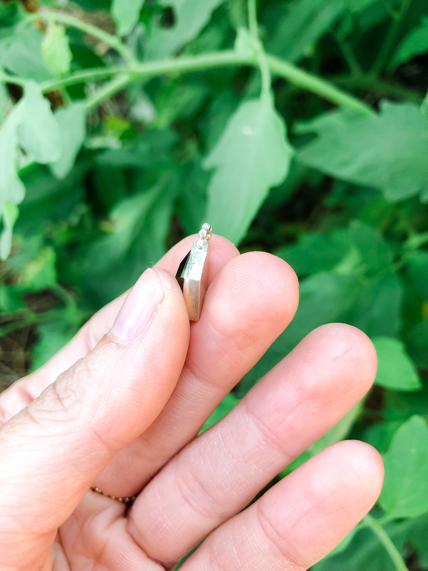
<svg viewBox="0 0 428 571">
<path fill-rule="evenodd" d="M 201 316 L 202 304 L 207 291 L 207 256 L 211 225 L 203 224 L 199 240 L 193 242 L 192 250 L 181 261 L 176 278 L 183 291 L 189 320 L 197 321 Z"/>
</svg>

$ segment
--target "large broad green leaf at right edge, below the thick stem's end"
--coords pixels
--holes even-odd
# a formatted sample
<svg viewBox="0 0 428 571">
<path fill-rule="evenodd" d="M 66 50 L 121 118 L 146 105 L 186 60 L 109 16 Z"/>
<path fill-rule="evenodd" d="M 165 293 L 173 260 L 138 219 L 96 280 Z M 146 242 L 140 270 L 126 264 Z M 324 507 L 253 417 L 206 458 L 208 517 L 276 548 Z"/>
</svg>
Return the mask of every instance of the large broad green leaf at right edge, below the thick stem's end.
<svg viewBox="0 0 428 571">
<path fill-rule="evenodd" d="M 428 118 L 414 103 L 381 103 L 381 113 L 334 111 L 300 126 L 314 132 L 297 159 L 326 174 L 379 188 L 392 202 L 421 193 L 428 200 Z"/>
</svg>

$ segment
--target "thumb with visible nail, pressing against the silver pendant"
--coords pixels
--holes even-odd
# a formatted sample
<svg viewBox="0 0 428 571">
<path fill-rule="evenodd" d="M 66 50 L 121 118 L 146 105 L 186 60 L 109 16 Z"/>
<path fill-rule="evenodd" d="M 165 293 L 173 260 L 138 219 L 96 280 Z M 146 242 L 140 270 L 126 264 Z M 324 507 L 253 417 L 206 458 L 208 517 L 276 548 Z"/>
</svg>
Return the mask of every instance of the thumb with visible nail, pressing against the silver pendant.
<svg viewBox="0 0 428 571">
<path fill-rule="evenodd" d="M 42 560 L 41 550 L 94 478 L 158 415 L 183 367 L 188 338 L 175 278 L 146 270 L 111 332 L 3 425 L 0 561 L 26 546 L 34 561 Z"/>
</svg>

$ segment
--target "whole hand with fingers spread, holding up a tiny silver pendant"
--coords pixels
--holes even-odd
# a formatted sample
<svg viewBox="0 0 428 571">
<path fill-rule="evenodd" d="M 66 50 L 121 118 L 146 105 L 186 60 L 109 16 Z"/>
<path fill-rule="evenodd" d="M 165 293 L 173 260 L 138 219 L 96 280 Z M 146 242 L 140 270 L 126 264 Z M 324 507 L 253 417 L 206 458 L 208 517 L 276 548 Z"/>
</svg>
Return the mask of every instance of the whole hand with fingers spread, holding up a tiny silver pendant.
<svg viewBox="0 0 428 571">
<path fill-rule="evenodd" d="M 349 325 L 315 329 L 196 437 L 288 325 L 298 284 L 275 256 L 238 255 L 213 236 L 211 285 L 189 326 L 168 272 L 194 239 L 1 395 L 2 571 L 169 569 L 205 536 L 183 571 L 300 571 L 377 499 L 378 453 L 345 441 L 243 510 L 368 391 L 376 356 Z M 127 510 L 90 490 L 92 482 L 138 497 Z"/>
</svg>

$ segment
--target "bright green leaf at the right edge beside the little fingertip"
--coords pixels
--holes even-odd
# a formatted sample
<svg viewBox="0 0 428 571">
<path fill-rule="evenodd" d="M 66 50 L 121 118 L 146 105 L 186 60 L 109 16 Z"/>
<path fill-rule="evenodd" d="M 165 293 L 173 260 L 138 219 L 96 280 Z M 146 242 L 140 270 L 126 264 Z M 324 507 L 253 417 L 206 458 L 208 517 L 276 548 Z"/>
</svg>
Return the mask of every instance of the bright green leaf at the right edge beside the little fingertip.
<svg viewBox="0 0 428 571">
<path fill-rule="evenodd" d="M 390 517 L 417 517 L 428 510 L 428 427 L 412 416 L 395 433 L 383 457 L 379 504 Z"/>
</svg>

